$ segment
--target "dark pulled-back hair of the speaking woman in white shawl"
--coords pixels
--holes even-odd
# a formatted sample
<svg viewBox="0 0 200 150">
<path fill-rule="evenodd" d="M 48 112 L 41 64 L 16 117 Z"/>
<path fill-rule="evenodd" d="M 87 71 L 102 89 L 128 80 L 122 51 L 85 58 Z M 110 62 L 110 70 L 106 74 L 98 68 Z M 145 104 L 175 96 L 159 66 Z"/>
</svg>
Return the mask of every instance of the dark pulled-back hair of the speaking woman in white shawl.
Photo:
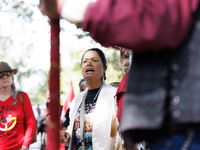
<svg viewBox="0 0 200 150">
<path fill-rule="evenodd" d="M 101 61 L 103 63 L 103 66 L 105 68 L 107 68 L 107 61 L 106 61 L 106 57 L 105 57 L 105 54 L 103 53 L 102 50 L 98 49 L 98 48 L 91 48 L 91 49 L 88 49 L 87 51 L 85 51 L 85 53 L 83 54 L 82 58 L 81 58 L 81 64 L 83 62 L 83 57 L 84 55 L 88 52 L 88 51 L 94 51 L 94 52 L 97 52 L 97 54 L 99 55 L 99 57 L 101 58 Z M 106 74 L 104 73 L 103 75 L 104 77 L 104 80 L 106 80 Z"/>
</svg>

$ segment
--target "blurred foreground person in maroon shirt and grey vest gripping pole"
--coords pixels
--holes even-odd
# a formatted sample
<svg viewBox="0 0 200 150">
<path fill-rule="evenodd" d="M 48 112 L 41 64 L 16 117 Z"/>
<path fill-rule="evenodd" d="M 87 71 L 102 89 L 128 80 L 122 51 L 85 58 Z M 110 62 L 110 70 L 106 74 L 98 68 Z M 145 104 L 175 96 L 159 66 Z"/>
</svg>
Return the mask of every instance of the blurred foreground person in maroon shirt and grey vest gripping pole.
<svg viewBox="0 0 200 150">
<path fill-rule="evenodd" d="M 40 3 L 51 20 L 61 16 L 103 46 L 133 51 L 120 115 L 128 146 L 200 148 L 199 0 L 51 2 Z"/>
</svg>

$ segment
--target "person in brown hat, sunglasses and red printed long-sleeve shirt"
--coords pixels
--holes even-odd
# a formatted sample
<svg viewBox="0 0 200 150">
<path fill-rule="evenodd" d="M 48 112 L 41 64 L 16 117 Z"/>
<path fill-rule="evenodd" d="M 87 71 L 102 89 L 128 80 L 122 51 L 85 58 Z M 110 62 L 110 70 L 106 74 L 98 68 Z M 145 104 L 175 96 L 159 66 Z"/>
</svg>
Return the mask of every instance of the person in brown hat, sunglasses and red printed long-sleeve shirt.
<svg viewBox="0 0 200 150">
<path fill-rule="evenodd" d="M 29 96 L 22 92 L 22 104 L 15 89 L 17 72 L 17 68 L 0 62 L 0 150 L 28 150 L 36 128 Z"/>
</svg>

